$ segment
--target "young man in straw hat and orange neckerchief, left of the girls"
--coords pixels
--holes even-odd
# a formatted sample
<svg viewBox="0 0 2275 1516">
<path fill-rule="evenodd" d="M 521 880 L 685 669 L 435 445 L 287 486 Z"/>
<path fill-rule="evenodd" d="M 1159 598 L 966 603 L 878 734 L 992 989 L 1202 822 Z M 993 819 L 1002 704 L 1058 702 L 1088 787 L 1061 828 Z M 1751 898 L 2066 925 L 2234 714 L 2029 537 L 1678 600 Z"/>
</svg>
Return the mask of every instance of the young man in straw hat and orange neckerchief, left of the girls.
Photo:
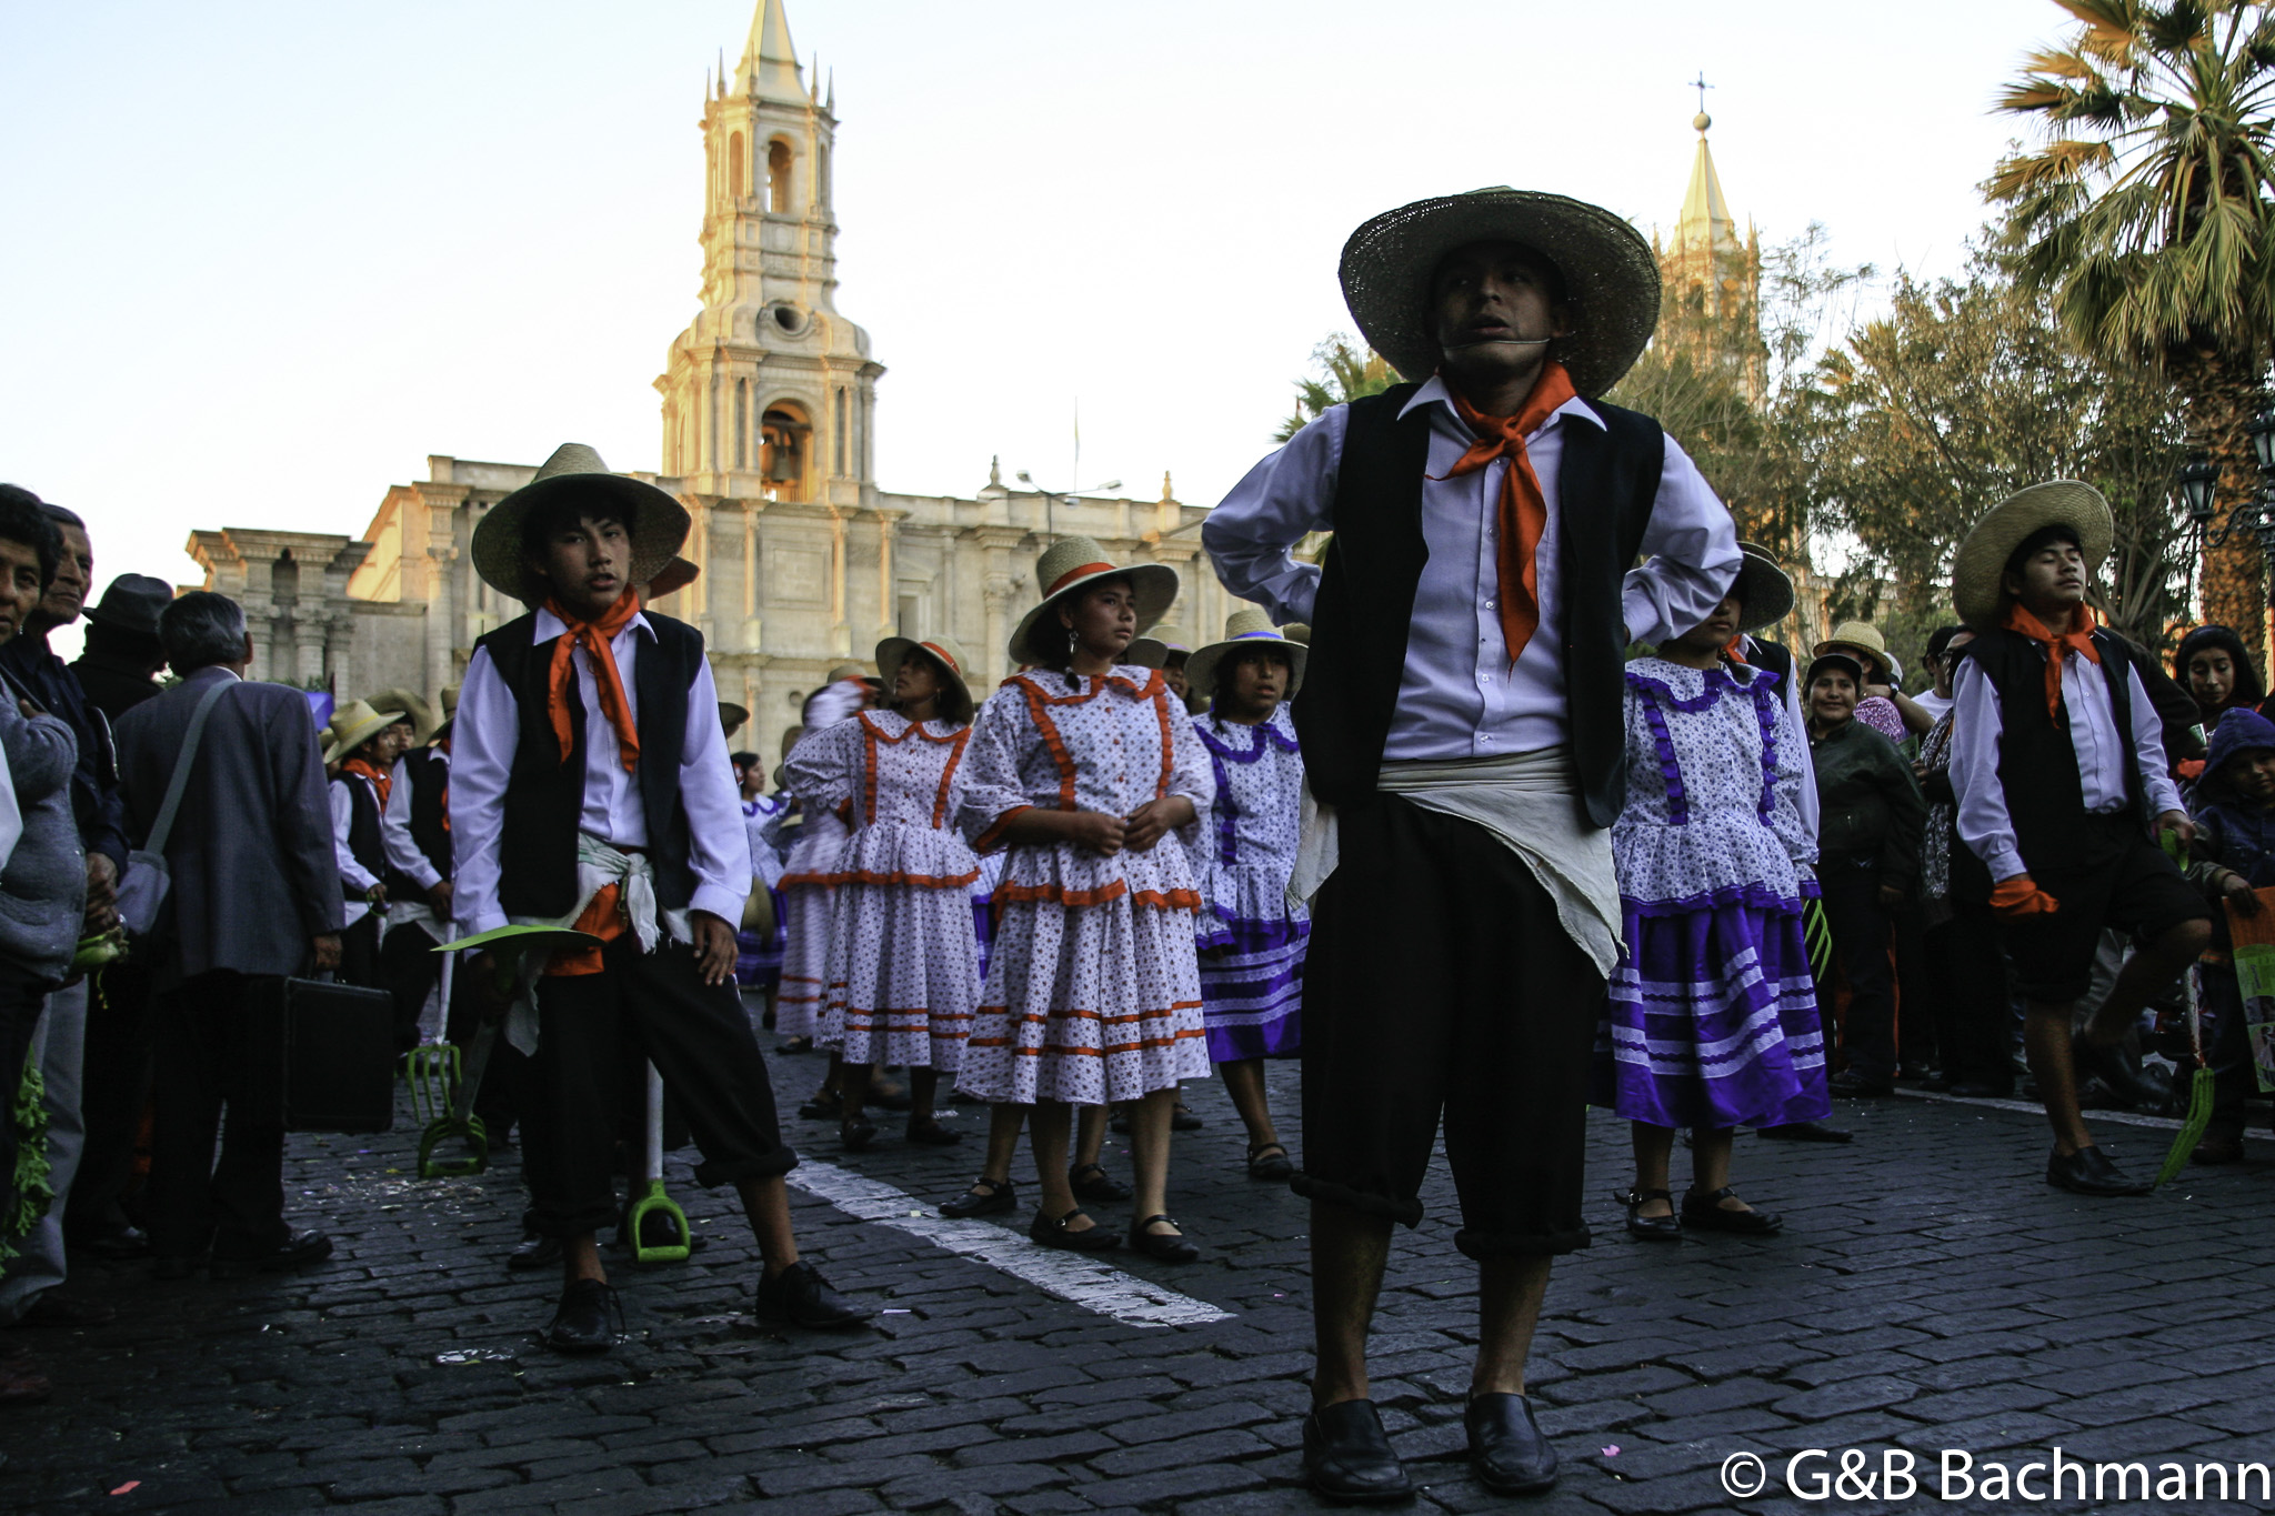
<svg viewBox="0 0 2275 1516">
<path fill-rule="evenodd" d="M 614 1291 L 594 1234 L 617 1221 L 619 1030 L 664 1075 L 703 1150 L 696 1177 L 735 1184 L 758 1236 L 762 1316 L 869 1316 L 799 1259 L 774 1089 L 735 993 L 735 923 L 751 889 L 719 693 L 703 636 L 639 609 L 687 539 L 687 511 L 566 443 L 482 516 L 475 570 L 530 611 L 485 636 L 453 727 L 450 839 L 462 932 L 576 925 L 605 939 L 555 952 L 507 1021 L 532 1052 L 521 1118 L 532 1223 L 562 1241 L 546 1341 L 605 1352 Z M 494 986 L 491 955 L 466 964 Z M 532 1046 L 535 1043 L 535 1046 Z"/>
</svg>

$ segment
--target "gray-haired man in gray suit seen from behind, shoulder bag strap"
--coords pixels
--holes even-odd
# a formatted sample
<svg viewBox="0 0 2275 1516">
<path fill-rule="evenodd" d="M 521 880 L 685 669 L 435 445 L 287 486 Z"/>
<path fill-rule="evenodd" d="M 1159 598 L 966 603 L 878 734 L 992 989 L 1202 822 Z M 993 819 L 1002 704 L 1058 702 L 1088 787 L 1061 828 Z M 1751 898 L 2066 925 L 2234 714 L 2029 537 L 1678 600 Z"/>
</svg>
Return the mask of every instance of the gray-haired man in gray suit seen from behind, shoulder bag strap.
<svg viewBox="0 0 2275 1516">
<path fill-rule="evenodd" d="M 246 1023 L 262 980 L 339 966 L 344 909 L 316 723 L 300 691 L 241 682 L 253 639 L 234 600 L 182 595 L 159 614 L 157 634 L 182 682 L 118 718 L 130 836 L 150 836 L 191 714 L 230 684 L 205 720 L 166 839 L 173 932 L 155 966 L 150 1152 L 157 1275 L 189 1277 L 207 1250 L 214 1277 L 298 1268 L 330 1257 L 332 1239 L 284 1225 L 284 1132 L 248 1118 Z M 230 1121 L 214 1164 L 223 1105 Z"/>
</svg>

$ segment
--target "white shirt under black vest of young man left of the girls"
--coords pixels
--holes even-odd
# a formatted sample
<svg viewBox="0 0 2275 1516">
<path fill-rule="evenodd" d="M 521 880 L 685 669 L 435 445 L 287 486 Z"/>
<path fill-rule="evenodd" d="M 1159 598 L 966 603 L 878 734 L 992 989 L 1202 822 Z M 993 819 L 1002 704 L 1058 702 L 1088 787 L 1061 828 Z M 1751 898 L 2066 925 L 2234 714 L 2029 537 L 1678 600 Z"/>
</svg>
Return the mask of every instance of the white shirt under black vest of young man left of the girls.
<svg viewBox="0 0 2275 1516">
<path fill-rule="evenodd" d="M 530 643 L 562 636 L 566 627 L 553 611 L 539 609 Z M 632 677 L 642 641 L 653 641 L 655 627 L 644 614 L 623 623 L 610 641 L 623 700 L 639 720 L 639 684 Z M 576 691 L 585 702 L 585 809 L 578 827 L 612 848 L 648 846 L 648 811 L 639 800 L 637 775 L 623 766 L 617 727 L 601 711 L 601 682 L 585 648 L 571 652 Z M 505 925 L 498 907 L 498 834 L 505 825 L 505 782 L 514 771 L 514 748 L 521 741 L 521 711 L 514 691 L 498 675 L 487 648 L 466 664 L 457 695 L 457 725 L 450 727 L 450 905 L 464 934 Z M 742 902 L 751 896 L 751 848 L 742 830 L 742 802 L 735 798 L 735 764 L 719 727 L 719 689 L 710 661 L 696 666 L 687 686 L 687 732 L 680 739 L 680 805 L 687 807 L 687 868 L 696 889 L 692 909 L 710 911 L 730 927 L 742 921 Z"/>
</svg>

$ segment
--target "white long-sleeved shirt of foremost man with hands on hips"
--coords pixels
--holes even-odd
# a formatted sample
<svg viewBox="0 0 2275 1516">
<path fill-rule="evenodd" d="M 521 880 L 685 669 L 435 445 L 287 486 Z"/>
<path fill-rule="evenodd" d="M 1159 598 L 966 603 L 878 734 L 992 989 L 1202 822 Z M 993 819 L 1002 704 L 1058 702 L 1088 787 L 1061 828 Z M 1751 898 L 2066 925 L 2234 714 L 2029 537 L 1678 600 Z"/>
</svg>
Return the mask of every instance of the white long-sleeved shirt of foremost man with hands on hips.
<svg viewBox="0 0 2275 1516">
<path fill-rule="evenodd" d="M 1515 666 L 1502 639 L 1499 570 L 1495 568 L 1502 477 L 1495 459 L 1447 477 L 1474 441 L 1445 382 L 1431 377 L 1399 416 L 1429 409 L 1429 464 L 1422 482 L 1422 539 L 1429 561 L 1415 586 L 1406 675 L 1383 759 L 1506 757 L 1552 748 L 1567 736 L 1563 648 L 1554 634 L 1563 609 L 1558 545 L 1563 498 L 1556 482 L 1565 427 L 1602 427 L 1586 400 L 1556 407 L 1527 439 L 1527 455 L 1549 502 L 1533 552 L 1540 632 Z M 1306 532 L 1335 527 L 1335 477 L 1349 409 L 1338 405 L 1249 470 L 1208 516 L 1201 545 L 1217 577 L 1242 600 L 1256 600 L 1276 623 L 1310 620 L 1320 566 L 1290 548 Z M 1608 509 L 1608 502 L 1581 502 Z M 1627 573 L 1620 616 L 1627 634 L 1665 641 L 1706 620 L 1738 575 L 1738 532 L 1690 457 L 1668 439 L 1658 498 L 1643 534 L 1645 564 Z"/>
</svg>

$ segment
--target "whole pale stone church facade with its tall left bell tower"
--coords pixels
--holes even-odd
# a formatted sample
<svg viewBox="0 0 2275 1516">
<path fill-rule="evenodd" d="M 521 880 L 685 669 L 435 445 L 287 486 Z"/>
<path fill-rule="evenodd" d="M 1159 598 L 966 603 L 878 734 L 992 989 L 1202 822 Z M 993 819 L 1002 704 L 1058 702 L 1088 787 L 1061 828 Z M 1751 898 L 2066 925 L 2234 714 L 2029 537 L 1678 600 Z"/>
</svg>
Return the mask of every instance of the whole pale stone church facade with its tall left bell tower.
<svg viewBox="0 0 2275 1516">
<path fill-rule="evenodd" d="M 885 368 L 835 305 L 833 107 L 801 82 L 783 2 L 760 0 L 739 66 L 703 102 L 703 307 L 655 380 L 662 473 L 642 477 L 687 507 L 682 552 L 703 570 L 655 607 L 703 632 L 721 698 L 755 714 L 737 741 L 771 743 L 830 666 L 892 634 L 953 636 L 992 689 L 1051 530 L 1174 566 L 1172 620 L 1213 634 L 1231 598 L 1201 557 L 1208 511 L 1172 498 L 1167 475 L 1160 500 L 1053 502 L 994 468 L 971 498 L 876 484 Z M 246 607 L 253 677 L 432 698 L 478 636 L 521 614 L 475 577 L 469 548 L 482 511 L 535 470 L 430 457 L 359 539 L 223 527 L 191 532 L 189 552 L 205 589 Z"/>
</svg>

